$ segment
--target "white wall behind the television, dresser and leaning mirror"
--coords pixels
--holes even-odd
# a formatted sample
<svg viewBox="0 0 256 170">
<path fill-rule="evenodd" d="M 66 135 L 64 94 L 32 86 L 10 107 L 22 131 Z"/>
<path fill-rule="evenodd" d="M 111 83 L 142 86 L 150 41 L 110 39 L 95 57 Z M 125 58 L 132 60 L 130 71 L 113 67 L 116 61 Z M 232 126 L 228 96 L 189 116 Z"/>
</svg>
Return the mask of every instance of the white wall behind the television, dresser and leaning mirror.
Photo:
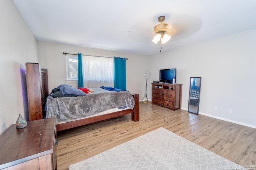
<svg viewBox="0 0 256 170">
<path fill-rule="evenodd" d="M 190 76 L 202 77 L 200 114 L 256 128 L 255 45 L 256 29 L 152 55 L 150 79 L 159 80 L 161 68 L 177 68 L 182 109 L 188 109 Z"/>
</svg>

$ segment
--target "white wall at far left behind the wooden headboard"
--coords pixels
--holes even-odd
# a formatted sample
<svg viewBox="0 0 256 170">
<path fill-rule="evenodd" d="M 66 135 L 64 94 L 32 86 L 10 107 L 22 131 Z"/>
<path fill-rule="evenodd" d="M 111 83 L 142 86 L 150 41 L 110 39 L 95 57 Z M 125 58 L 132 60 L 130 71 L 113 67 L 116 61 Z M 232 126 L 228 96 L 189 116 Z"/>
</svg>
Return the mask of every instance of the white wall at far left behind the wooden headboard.
<svg viewBox="0 0 256 170">
<path fill-rule="evenodd" d="M 12 0 L 0 0 L 0 134 L 28 119 L 25 63 L 38 63 L 38 44 Z"/>
</svg>

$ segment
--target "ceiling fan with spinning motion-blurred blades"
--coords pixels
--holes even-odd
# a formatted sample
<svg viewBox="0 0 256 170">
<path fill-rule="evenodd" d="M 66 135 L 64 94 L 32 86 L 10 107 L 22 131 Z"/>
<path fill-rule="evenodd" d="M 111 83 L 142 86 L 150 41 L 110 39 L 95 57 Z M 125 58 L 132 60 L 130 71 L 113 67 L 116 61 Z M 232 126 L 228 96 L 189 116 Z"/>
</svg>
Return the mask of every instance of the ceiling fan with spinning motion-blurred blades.
<svg viewBox="0 0 256 170">
<path fill-rule="evenodd" d="M 163 20 L 163 18 L 165 18 L 165 20 Z M 160 27 L 161 21 L 163 27 Z M 168 27 L 166 25 L 168 25 Z M 156 29 L 154 29 L 154 27 Z M 202 21 L 199 18 L 188 14 L 158 13 L 156 15 L 152 14 L 138 20 L 136 23 L 134 23 L 134 25 L 128 28 L 129 31 L 127 32 L 127 35 L 133 41 L 141 43 L 142 47 L 144 48 L 148 48 L 149 45 L 152 51 L 157 53 L 158 48 L 160 48 L 160 52 L 163 52 L 163 48 L 165 48 L 167 51 L 177 47 L 176 43 L 182 43 L 182 39 L 193 35 L 201 27 Z M 166 33 L 171 36 L 167 43 L 161 44 L 161 38 L 156 42 L 157 44 L 153 43 L 152 39 L 158 34 L 159 31 L 163 31 L 160 32 L 162 34 Z"/>
</svg>

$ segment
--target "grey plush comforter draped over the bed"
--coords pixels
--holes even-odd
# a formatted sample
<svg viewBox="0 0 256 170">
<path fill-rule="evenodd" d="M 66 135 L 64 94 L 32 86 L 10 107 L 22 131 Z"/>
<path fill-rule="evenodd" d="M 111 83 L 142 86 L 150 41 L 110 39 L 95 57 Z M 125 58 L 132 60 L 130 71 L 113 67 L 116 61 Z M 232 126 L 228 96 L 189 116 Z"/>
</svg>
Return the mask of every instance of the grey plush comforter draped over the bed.
<svg viewBox="0 0 256 170">
<path fill-rule="evenodd" d="M 135 101 L 127 91 L 112 92 L 92 88 L 95 92 L 74 98 L 52 98 L 46 101 L 46 118 L 56 117 L 57 122 L 70 121 L 118 107 L 133 109 Z"/>
</svg>

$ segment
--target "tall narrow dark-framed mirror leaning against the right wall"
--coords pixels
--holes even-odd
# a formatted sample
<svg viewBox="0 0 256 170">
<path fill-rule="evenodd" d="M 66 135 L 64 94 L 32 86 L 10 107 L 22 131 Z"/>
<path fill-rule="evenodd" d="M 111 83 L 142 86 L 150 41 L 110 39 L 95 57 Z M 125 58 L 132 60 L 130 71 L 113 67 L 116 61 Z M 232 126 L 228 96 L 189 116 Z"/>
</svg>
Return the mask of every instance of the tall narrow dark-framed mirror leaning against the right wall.
<svg viewBox="0 0 256 170">
<path fill-rule="evenodd" d="M 188 112 L 198 115 L 201 77 L 190 77 L 190 88 L 188 97 Z"/>
</svg>

